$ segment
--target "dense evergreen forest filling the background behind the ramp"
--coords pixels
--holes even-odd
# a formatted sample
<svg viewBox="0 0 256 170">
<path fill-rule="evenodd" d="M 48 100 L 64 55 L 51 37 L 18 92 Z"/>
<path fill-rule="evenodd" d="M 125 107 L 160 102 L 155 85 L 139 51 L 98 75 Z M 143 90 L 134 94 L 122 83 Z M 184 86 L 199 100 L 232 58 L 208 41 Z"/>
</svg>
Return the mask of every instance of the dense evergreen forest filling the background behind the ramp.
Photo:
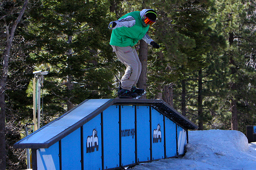
<svg viewBox="0 0 256 170">
<path fill-rule="evenodd" d="M 11 27 L 22 4 L 0 2 L 1 54 L 5 27 Z M 7 169 L 26 167 L 24 151 L 13 150 L 12 144 L 32 122 L 32 72 L 49 71 L 44 76 L 43 124 L 85 99 L 114 98 L 125 67 L 112 53 L 108 24 L 142 8 L 157 12 L 149 35 L 160 44 L 160 49 L 148 48 L 147 98 L 173 101 L 169 104 L 200 129 L 245 133 L 246 125 L 255 124 L 256 1 L 30 1 L 9 61 Z"/>
</svg>

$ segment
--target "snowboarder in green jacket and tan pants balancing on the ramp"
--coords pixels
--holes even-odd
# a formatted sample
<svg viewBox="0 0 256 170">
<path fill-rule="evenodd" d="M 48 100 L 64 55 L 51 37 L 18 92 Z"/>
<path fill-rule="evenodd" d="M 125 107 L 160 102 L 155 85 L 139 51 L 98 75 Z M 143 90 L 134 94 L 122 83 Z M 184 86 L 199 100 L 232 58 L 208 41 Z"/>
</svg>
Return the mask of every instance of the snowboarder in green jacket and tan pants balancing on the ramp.
<svg viewBox="0 0 256 170">
<path fill-rule="evenodd" d="M 143 39 L 154 48 L 159 48 L 159 45 L 146 34 L 156 18 L 156 12 L 153 9 L 143 9 L 130 12 L 119 20 L 109 23 L 108 28 L 113 29 L 109 44 L 119 60 L 126 66 L 117 92 L 118 96 L 135 98 L 146 93 L 144 89 L 136 88 L 141 73 L 141 62 L 133 46 Z"/>
</svg>

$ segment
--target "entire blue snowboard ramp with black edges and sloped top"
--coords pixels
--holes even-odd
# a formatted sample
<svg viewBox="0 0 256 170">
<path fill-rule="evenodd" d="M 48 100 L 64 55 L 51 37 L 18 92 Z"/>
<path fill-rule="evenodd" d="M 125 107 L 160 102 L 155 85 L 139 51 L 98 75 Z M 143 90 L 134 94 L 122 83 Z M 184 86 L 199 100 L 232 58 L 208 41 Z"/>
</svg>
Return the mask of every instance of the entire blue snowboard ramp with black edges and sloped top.
<svg viewBox="0 0 256 170">
<path fill-rule="evenodd" d="M 89 100 L 15 147 L 33 148 L 33 170 L 116 169 L 183 155 L 188 141 L 184 126 L 196 126 L 179 113 L 169 113 L 166 105 L 152 106 L 156 101 L 131 101 L 135 103 Z M 48 130 L 58 126 L 62 133 Z M 43 139 L 47 133 L 49 139 Z"/>
</svg>

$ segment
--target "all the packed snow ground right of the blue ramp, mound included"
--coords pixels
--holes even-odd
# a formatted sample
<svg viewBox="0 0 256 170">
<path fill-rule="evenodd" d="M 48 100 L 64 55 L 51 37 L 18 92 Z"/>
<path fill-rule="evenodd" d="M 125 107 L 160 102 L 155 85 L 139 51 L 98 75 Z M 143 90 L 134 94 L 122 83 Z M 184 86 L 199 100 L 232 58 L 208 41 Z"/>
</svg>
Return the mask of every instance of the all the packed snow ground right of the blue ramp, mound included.
<svg viewBox="0 0 256 170">
<path fill-rule="evenodd" d="M 137 165 L 134 170 L 256 170 L 256 143 L 234 130 L 189 131 L 182 158 Z"/>
</svg>

